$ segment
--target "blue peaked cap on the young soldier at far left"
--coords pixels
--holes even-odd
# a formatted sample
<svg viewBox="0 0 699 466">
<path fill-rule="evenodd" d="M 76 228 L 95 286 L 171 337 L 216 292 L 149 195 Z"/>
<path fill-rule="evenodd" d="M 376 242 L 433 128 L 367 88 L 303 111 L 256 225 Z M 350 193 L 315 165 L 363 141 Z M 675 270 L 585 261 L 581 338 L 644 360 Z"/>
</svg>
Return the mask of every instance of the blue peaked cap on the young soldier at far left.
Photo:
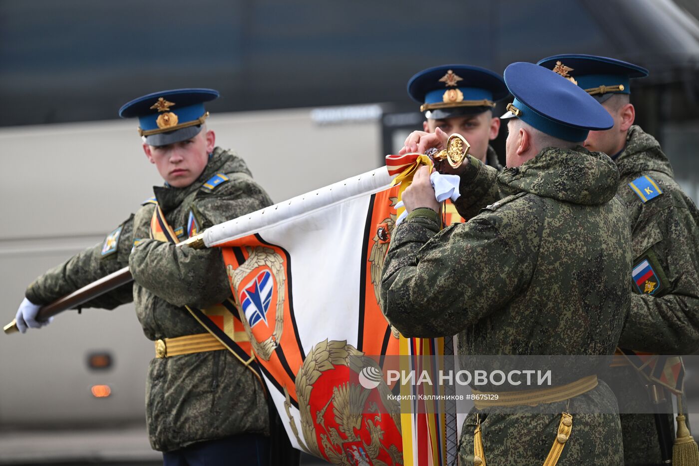
<svg viewBox="0 0 699 466">
<path fill-rule="evenodd" d="M 122 118 L 138 118 L 138 134 L 151 146 L 190 139 L 201 132 L 208 117 L 204 102 L 219 97 L 217 90 L 173 89 L 138 97 L 119 110 Z"/>
</svg>

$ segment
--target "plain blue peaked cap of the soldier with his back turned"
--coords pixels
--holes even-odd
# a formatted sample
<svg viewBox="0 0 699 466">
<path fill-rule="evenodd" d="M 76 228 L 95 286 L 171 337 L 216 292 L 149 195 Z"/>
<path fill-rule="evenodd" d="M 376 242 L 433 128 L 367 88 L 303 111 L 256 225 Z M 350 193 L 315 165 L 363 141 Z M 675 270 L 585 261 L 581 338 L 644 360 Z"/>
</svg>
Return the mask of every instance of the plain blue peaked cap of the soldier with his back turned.
<svg viewBox="0 0 699 466">
<path fill-rule="evenodd" d="M 517 117 L 541 132 L 570 142 L 590 130 L 610 129 L 612 116 L 587 92 L 563 76 L 533 63 L 512 63 L 505 83 L 514 96 L 501 118 Z"/>
</svg>

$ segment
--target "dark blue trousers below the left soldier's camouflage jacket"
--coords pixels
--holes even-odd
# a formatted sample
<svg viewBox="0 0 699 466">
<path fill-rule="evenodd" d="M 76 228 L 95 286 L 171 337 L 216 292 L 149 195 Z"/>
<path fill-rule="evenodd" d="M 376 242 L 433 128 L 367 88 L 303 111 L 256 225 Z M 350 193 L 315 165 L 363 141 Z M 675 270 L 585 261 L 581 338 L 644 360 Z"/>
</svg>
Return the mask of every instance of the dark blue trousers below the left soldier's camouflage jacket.
<svg viewBox="0 0 699 466">
<path fill-rule="evenodd" d="M 268 466 L 269 437 L 243 434 L 163 453 L 164 466 Z"/>
</svg>

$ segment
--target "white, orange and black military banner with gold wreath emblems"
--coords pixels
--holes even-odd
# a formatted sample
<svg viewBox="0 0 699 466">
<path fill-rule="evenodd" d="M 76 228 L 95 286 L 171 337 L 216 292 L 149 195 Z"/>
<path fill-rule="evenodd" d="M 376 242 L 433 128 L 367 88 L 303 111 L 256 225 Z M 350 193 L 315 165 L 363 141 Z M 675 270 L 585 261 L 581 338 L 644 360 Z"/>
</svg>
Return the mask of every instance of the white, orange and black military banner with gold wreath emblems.
<svg viewBox="0 0 699 466">
<path fill-rule="evenodd" d="M 402 338 L 380 309 L 401 188 L 391 178 L 383 167 L 202 235 L 206 246 L 222 248 L 240 320 L 291 443 L 338 465 L 446 463 L 443 421 L 401 416 L 400 402 L 387 396 L 401 388 L 381 375 L 385 355 L 443 347 Z"/>
</svg>

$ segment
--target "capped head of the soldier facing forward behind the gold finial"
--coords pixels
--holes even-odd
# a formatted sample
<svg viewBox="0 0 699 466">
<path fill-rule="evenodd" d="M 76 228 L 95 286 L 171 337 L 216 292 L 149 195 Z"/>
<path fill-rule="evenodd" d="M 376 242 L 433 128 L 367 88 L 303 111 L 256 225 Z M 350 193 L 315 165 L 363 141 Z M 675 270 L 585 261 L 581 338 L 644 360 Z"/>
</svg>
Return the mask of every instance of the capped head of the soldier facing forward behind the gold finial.
<svg viewBox="0 0 699 466">
<path fill-rule="evenodd" d="M 498 170 L 503 167 L 489 141 L 500 131 L 500 119 L 493 118 L 493 108 L 507 94 L 503 78 L 479 66 L 434 66 L 408 81 L 408 95 L 424 112 L 425 132 L 461 134 L 470 143 L 473 157 Z"/>
</svg>

